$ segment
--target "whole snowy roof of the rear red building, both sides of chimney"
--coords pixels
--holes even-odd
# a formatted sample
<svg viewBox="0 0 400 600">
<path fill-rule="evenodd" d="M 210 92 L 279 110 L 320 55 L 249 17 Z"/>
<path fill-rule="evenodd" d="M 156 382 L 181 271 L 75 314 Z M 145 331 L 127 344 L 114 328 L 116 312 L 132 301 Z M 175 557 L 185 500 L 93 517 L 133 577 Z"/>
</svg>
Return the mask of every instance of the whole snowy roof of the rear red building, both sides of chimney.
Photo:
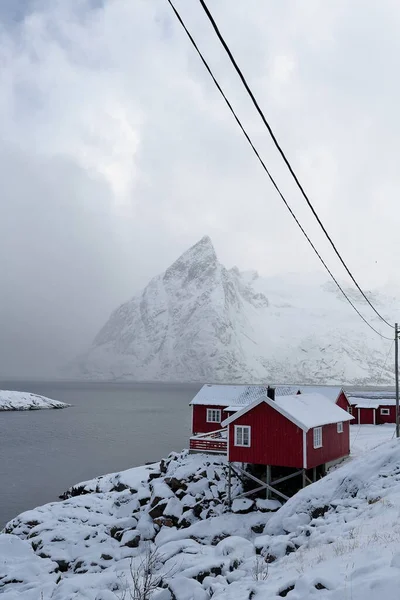
<svg viewBox="0 0 400 600">
<path fill-rule="evenodd" d="M 254 400 L 267 394 L 268 385 L 219 385 L 206 384 L 196 394 L 190 404 L 203 404 L 208 406 L 248 406 Z M 321 394 L 336 402 L 343 389 L 340 386 L 321 385 L 278 385 L 275 387 L 275 396 L 293 396 L 301 394 Z M 237 410 L 237 409 L 236 409 Z"/>
</svg>

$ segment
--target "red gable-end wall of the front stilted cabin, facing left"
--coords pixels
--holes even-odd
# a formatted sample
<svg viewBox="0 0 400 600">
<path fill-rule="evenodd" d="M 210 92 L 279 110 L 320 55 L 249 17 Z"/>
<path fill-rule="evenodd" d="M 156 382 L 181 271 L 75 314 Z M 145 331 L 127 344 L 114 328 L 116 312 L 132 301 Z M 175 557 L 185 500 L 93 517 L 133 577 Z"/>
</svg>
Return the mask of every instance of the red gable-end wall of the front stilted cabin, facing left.
<svg viewBox="0 0 400 600">
<path fill-rule="evenodd" d="M 250 425 L 250 448 L 234 445 L 235 425 Z M 229 460 L 302 468 L 303 431 L 262 402 L 229 425 Z"/>
</svg>

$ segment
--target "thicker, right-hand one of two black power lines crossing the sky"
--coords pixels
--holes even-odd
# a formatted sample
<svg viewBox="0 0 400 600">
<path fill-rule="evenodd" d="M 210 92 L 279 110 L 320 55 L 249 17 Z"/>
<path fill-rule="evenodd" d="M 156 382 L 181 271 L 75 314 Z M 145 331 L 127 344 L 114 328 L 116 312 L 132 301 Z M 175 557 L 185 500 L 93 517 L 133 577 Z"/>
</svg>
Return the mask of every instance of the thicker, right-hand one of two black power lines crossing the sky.
<svg viewBox="0 0 400 600">
<path fill-rule="evenodd" d="M 211 23 L 211 25 L 212 25 L 212 27 L 213 27 L 214 31 L 215 31 L 215 33 L 217 34 L 217 37 L 218 37 L 219 41 L 221 42 L 221 44 L 222 44 L 222 46 L 223 46 L 224 50 L 225 50 L 225 51 L 226 51 L 226 53 L 228 54 L 228 56 L 229 56 L 229 59 L 230 59 L 231 63 L 233 64 L 233 66 L 234 66 L 234 68 L 235 68 L 235 70 L 236 70 L 237 74 L 239 75 L 239 77 L 240 77 L 240 79 L 241 79 L 241 81 L 242 81 L 242 83 L 243 83 L 243 85 L 244 85 L 244 87 L 245 87 L 245 89 L 246 89 L 247 93 L 249 94 L 249 96 L 250 96 L 250 98 L 251 98 L 251 100 L 252 100 L 252 102 L 253 102 L 253 104 L 254 104 L 254 106 L 255 106 L 255 108 L 256 108 L 256 110 L 257 110 L 257 112 L 258 112 L 258 114 L 260 115 L 260 117 L 261 117 L 261 119 L 262 119 L 262 121 L 263 121 L 264 125 L 265 125 L 265 126 L 266 126 L 266 128 L 268 129 L 268 132 L 269 132 L 269 134 L 270 134 L 270 136 L 271 136 L 271 138 L 272 138 L 272 140 L 273 140 L 273 142 L 274 142 L 274 144 L 275 144 L 276 148 L 278 149 L 278 151 L 279 151 L 279 153 L 280 153 L 281 157 L 283 158 L 283 160 L 284 160 L 284 162 L 285 162 L 285 164 L 286 164 L 287 168 L 289 169 L 289 171 L 290 171 L 290 174 L 292 175 L 293 179 L 295 180 L 295 182 L 296 182 L 296 184 L 297 184 L 297 187 L 298 187 L 298 188 L 299 188 L 299 190 L 301 191 L 301 193 L 302 193 L 302 195 L 303 195 L 303 197 L 304 197 L 305 201 L 307 202 L 307 204 L 308 204 L 308 206 L 309 206 L 309 208 L 310 208 L 310 210 L 311 210 L 312 214 L 313 214 L 313 215 L 314 215 L 314 217 L 316 218 L 316 220 L 317 220 L 317 222 L 318 222 L 319 226 L 321 227 L 322 231 L 324 232 L 325 236 L 328 238 L 328 240 L 329 240 L 329 242 L 330 242 L 330 244 L 331 244 L 332 248 L 334 249 L 334 251 L 335 251 L 335 253 L 336 253 L 337 257 L 339 258 L 339 260 L 340 260 L 340 262 L 342 263 L 343 267 L 346 269 L 346 271 L 347 271 L 348 275 L 349 275 L 349 276 L 350 276 L 350 278 L 352 279 L 352 281 L 353 281 L 353 283 L 355 284 L 355 286 L 357 287 L 358 291 L 359 291 L 359 292 L 362 294 L 362 296 L 363 296 L 363 297 L 365 298 L 365 300 L 368 302 L 368 304 L 370 305 L 370 307 L 372 308 L 372 310 L 373 310 L 373 311 L 374 311 L 374 312 L 375 312 L 375 313 L 378 315 L 378 317 L 379 317 L 380 319 L 382 319 L 382 321 L 383 321 L 384 323 L 386 323 L 386 325 L 389 325 L 389 327 L 392 327 L 392 328 L 393 328 L 394 326 L 393 326 L 391 323 L 389 323 L 389 322 L 388 322 L 388 321 L 385 319 L 385 317 L 383 317 L 383 316 L 382 316 L 382 315 L 379 313 L 379 311 L 378 311 L 378 310 L 375 308 L 375 306 L 372 304 L 372 302 L 370 301 L 370 299 L 368 298 L 368 296 L 367 296 L 367 295 L 366 295 L 366 294 L 363 292 L 363 290 L 361 289 L 361 287 L 358 285 L 358 283 L 357 283 L 357 281 L 356 281 L 356 279 L 355 279 L 354 275 L 352 274 L 352 272 L 350 271 L 349 267 L 346 265 L 345 261 L 343 260 L 343 258 L 342 258 L 342 256 L 341 256 L 341 254 L 340 254 L 339 250 L 336 248 L 336 245 L 335 245 L 335 243 L 333 242 L 333 240 L 332 240 L 331 236 L 329 235 L 329 233 L 327 232 L 327 230 L 326 230 L 326 228 L 325 228 L 324 224 L 322 223 L 321 219 L 319 218 L 319 216 L 318 216 L 318 214 L 317 214 L 317 212 L 316 212 L 316 210 L 315 210 L 314 206 L 313 206 L 313 205 L 312 205 L 312 203 L 311 203 L 311 200 L 309 199 L 308 195 L 306 194 L 306 192 L 305 192 L 305 190 L 304 190 L 303 186 L 301 185 L 301 183 L 300 183 L 300 181 L 299 181 L 299 179 L 298 179 L 298 177 L 297 177 L 296 173 L 294 172 L 294 170 L 293 170 L 293 168 L 292 168 L 292 166 L 291 166 L 291 164 L 290 164 L 290 162 L 289 162 L 288 158 L 286 157 L 286 155 L 285 155 L 285 153 L 284 153 L 284 151 L 283 151 L 282 147 L 280 146 L 280 144 L 279 144 L 279 142 L 278 142 L 278 140 L 277 140 L 277 138 L 276 138 L 276 136 L 275 136 L 274 132 L 273 132 L 273 131 L 272 131 L 272 129 L 271 129 L 271 126 L 270 126 L 270 124 L 268 123 L 267 119 L 265 118 L 265 115 L 264 115 L 263 111 L 261 110 L 261 108 L 260 108 L 260 106 L 259 106 L 259 104 L 258 104 L 258 102 L 257 102 L 256 98 L 254 97 L 254 94 L 253 94 L 253 92 L 251 91 L 251 89 L 250 89 L 250 86 L 248 85 L 248 83 L 247 83 L 247 81 L 246 81 L 246 79 L 245 79 L 245 77 L 244 77 L 244 75 L 243 75 L 243 73 L 242 73 L 241 69 L 239 68 L 239 66 L 238 66 L 238 64 L 237 64 L 237 62 L 236 62 L 236 60 L 235 60 L 235 58 L 234 58 L 234 56 L 233 56 L 233 54 L 232 54 L 231 50 L 229 49 L 229 46 L 228 46 L 228 44 L 226 43 L 226 41 L 225 41 L 224 37 L 222 36 L 222 34 L 221 34 L 220 30 L 218 29 L 218 25 L 216 24 L 216 22 L 215 22 L 215 20 L 214 20 L 214 18 L 213 18 L 213 16 L 212 16 L 212 14 L 210 13 L 210 11 L 209 11 L 209 9 L 208 9 L 208 7 L 207 7 L 206 3 L 204 2 L 204 0 L 199 0 L 199 2 L 200 2 L 200 4 L 201 4 L 201 6 L 202 6 L 202 8 L 203 8 L 204 12 L 206 13 L 206 15 L 207 15 L 207 17 L 208 17 L 208 19 L 209 19 L 209 21 L 210 21 L 210 23 Z"/>
</svg>

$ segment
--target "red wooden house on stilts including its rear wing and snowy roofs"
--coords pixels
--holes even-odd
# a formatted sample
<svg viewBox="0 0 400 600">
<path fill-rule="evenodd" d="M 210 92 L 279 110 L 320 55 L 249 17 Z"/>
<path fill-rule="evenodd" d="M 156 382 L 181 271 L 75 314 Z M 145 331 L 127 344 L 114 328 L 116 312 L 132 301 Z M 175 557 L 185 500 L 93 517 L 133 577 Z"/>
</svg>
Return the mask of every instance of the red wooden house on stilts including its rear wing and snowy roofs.
<svg viewBox="0 0 400 600">
<path fill-rule="evenodd" d="M 219 395 L 213 387 L 220 388 Z M 234 394 L 239 396 L 235 399 Z M 249 400 L 250 396 L 254 399 Z M 336 399 L 340 396 L 338 393 Z M 246 403 L 240 405 L 240 399 Z M 211 425 L 214 429 L 192 436 L 190 450 L 226 454 L 230 468 L 232 463 L 236 463 L 235 469 L 237 463 L 262 465 L 265 481 L 250 476 L 260 484 L 257 489 L 266 488 L 287 498 L 277 490 L 278 483 L 299 474 L 303 485 L 307 479 L 315 481 L 318 474 L 325 473 L 327 464 L 350 452 L 349 422 L 353 417 L 322 394 L 297 390 L 294 395 L 279 396 L 266 386 L 209 386 L 200 401 L 192 401 L 194 431 Z M 236 405 L 226 406 L 228 401 Z M 249 475 L 243 467 L 239 470 Z"/>
</svg>

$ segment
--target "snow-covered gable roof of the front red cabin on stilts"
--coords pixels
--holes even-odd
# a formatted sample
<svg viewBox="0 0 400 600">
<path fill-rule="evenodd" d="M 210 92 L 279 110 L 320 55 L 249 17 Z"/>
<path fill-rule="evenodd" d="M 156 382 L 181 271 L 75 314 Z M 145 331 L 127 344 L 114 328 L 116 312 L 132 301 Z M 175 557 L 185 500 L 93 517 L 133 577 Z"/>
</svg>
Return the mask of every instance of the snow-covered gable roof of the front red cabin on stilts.
<svg viewBox="0 0 400 600">
<path fill-rule="evenodd" d="M 229 425 L 229 423 L 232 423 L 249 410 L 252 410 L 255 406 L 261 404 L 261 402 L 265 402 L 277 410 L 304 431 L 308 431 L 313 427 L 319 427 L 320 425 L 351 421 L 354 418 L 322 394 L 276 396 L 275 400 L 263 396 L 225 419 L 222 422 L 222 426 L 226 427 L 226 425 Z"/>
</svg>

